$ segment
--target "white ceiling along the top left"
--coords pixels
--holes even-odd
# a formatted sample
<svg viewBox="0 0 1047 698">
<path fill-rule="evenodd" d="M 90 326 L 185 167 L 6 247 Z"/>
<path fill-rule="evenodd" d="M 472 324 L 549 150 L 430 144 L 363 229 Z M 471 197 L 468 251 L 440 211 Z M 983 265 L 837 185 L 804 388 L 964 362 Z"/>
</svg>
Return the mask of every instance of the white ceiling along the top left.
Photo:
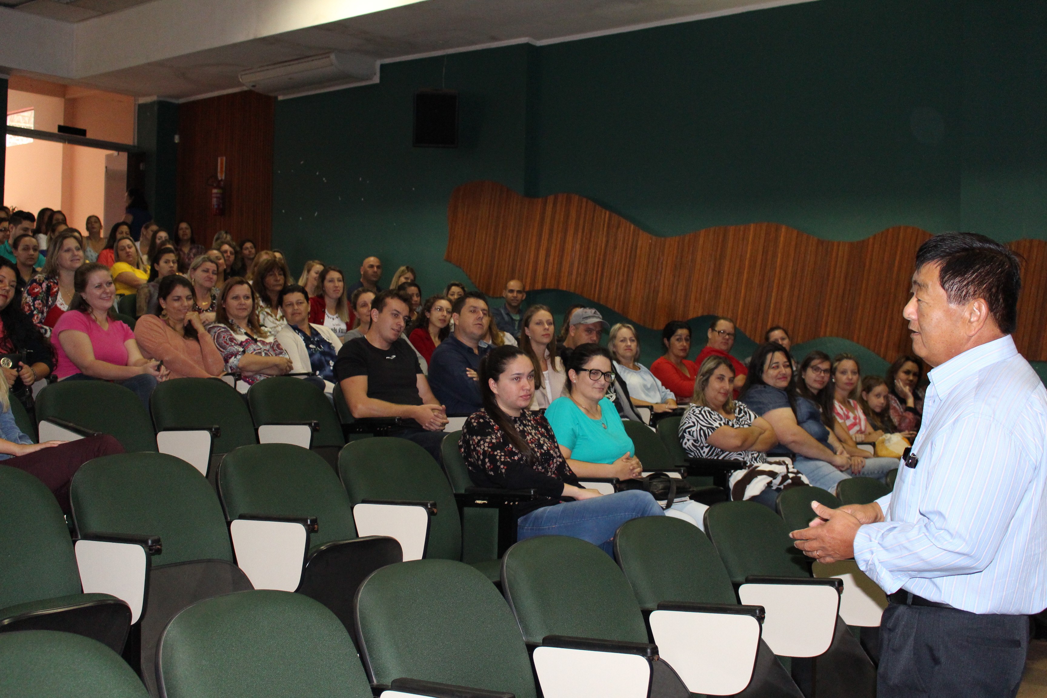
<svg viewBox="0 0 1047 698">
<path fill-rule="evenodd" d="M 239 73 L 248 68 L 329 51 L 378 63 L 807 1 L 31 0 L 15 9 L 0 7 L 4 35 L 22 38 L 0 42 L 0 69 L 184 99 L 237 89 Z"/>
</svg>

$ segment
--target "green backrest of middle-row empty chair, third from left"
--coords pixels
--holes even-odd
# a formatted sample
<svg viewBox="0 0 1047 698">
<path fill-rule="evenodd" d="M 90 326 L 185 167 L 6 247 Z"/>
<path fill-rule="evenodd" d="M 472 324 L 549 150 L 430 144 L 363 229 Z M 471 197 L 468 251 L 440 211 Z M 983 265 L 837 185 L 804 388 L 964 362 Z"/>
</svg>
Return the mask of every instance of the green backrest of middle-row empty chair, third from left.
<svg viewBox="0 0 1047 698">
<path fill-rule="evenodd" d="M 327 460 L 300 446 L 241 446 L 222 458 L 218 492 L 230 521 L 241 514 L 315 516 L 313 548 L 356 538 L 353 509 L 338 477 Z"/>
</svg>

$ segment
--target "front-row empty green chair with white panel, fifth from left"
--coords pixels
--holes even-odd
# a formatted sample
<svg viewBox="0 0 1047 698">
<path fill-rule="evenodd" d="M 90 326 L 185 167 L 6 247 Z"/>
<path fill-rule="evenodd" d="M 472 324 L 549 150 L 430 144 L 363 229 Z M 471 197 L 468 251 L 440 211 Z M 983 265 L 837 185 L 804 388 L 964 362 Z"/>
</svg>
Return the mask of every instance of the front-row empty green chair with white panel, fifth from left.
<svg viewBox="0 0 1047 698">
<path fill-rule="evenodd" d="M 800 698 L 803 694 L 759 638 L 747 633 L 754 616 L 710 615 L 696 623 L 675 610 L 699 609 L 742 613 L 731 580 L 709 539 L 696 527 L 668 516 L 626 521 L 615 535 L 615 557 L 640 604 L 651 641 L 659 647 L 692 693 L 739 693 L 732 678 L 752 672 L 752 682 L 739 695 Z M 689 622 L 690 621 L 690 622 Z M 744 622 L 744 623 L 741 623 Z M 756 628 L 759 630 L 759 628 Z M 752 654 L 755 652 L 755 665 Z M 748 665 L 737 667 L 742 659 Z M 725 668 L 734 673 L 726 673 Z"/>
</svg>

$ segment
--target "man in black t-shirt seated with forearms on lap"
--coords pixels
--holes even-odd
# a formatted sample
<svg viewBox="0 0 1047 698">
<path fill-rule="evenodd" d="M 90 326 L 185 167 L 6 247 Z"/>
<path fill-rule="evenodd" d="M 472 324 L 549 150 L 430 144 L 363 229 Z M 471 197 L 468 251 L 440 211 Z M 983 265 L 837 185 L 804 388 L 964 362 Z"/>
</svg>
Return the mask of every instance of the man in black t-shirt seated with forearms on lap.
<svg viewBox="0 0 1047 698">
<path fill-rule="evenodd" d="M 334 373 L 354 418 L 413 420 L 389 435 L 409 438 L 442 464 L 447 410 L 429 389 L 418 356 L 400 336 L 409 317 L 410 299 L 405 294 L 379 293 L 371 301 L 367 334 L 342 345 Z"/>
</svg>

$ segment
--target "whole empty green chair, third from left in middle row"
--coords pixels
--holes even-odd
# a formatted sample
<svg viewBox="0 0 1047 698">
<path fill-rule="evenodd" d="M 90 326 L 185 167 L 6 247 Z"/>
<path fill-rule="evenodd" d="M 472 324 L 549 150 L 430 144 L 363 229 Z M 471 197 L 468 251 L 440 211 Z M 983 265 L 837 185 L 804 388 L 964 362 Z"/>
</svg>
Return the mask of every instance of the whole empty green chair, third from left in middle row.
<svg viewBox="0 0 1047 698">
<path fill-rule="evenodd" d="M 403 559 L 393 538 L 357 537 L 338 477 L 324 458 L 300 446 L 238 448 L 222 459 L 218 489 L 238 564 L 254 587 L 311 596 L 350 632 L 360 582 Z"/>
</svg>

